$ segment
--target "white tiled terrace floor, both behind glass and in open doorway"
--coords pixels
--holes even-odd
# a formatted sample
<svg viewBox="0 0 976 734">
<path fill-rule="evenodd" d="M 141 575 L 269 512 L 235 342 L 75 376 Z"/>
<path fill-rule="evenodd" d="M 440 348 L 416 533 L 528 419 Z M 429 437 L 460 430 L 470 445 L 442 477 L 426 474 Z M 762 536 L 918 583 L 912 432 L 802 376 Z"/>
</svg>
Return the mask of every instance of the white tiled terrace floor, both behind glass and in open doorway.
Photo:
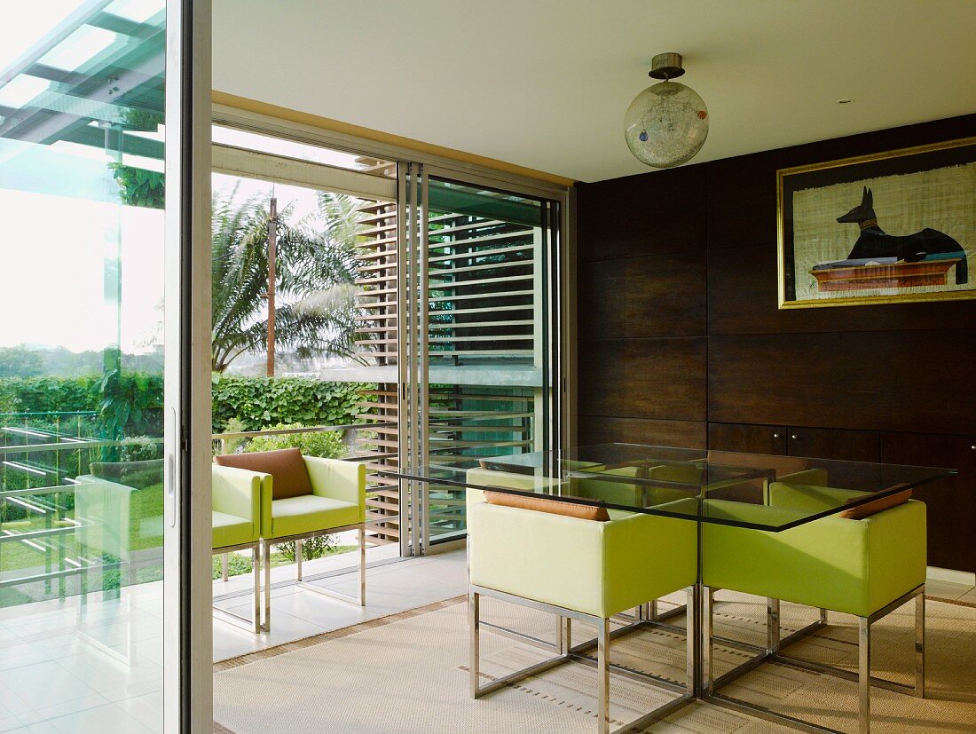
<svg viewBox="0 0 976 734">
<path fill-rule="evenodd" d="M 370 562 L 395 549 L 370 549 Z M 351 556 L 349 556 L 351 557 Z M 305 578 L 346 565 L 347 558 L 305 563 Z M 214 659 L 222 660 L 318 632 L 423 606 L 466 591 L 463 551 L 393 561 L 367 570 L 364 608 L 288 583 L 295 567 L 272 570 L 271 632 L 256 635 L 214 621 Z M 353 591 L 355 573 L 315 583 Z M 214 583 L 225 602 L 249 610 L 251 576 Z M 274 585 L 278 585 L 275 587 Z M 162 584 L 124 589 L 118 599 L 89 595 L 0 609 L 0 732 L 143 734 L 162 721 Z"/>
</svg>

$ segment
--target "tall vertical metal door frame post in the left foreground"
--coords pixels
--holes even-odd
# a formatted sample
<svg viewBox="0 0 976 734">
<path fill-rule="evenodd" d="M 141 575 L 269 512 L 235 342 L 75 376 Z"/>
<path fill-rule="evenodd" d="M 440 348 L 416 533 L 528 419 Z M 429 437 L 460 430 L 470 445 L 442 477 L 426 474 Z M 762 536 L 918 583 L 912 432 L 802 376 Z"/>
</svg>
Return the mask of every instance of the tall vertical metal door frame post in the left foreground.
<svg viewBox="0 0 976 734">
<path fill-rule="evenodd" d="M 166 3 L 163 727 L 213 730 L 211 0 Z"/>
</svg>

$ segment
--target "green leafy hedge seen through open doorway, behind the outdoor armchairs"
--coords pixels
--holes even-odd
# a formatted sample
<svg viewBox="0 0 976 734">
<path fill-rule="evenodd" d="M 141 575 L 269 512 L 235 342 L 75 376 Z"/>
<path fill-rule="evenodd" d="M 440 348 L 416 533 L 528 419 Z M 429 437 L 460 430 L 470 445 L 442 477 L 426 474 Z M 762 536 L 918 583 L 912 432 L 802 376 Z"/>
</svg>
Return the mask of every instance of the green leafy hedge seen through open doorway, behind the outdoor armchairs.
<svg viewBox="0 0 976 734">
<path fill-rule="evenodd" d="M 323 383 L 296 377 L 219 377 L 214 380 L 214 432 L 239 419 L 241 430 L 275 424 L 342 426 L 362 400 L 359 383 Z"/>
</svg>

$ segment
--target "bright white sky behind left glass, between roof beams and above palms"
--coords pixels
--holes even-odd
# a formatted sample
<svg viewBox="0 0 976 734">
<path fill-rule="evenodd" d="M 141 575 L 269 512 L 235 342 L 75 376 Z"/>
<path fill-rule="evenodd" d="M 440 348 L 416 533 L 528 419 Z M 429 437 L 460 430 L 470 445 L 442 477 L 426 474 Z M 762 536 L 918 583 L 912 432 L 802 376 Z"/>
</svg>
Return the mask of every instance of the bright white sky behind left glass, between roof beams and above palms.
<svg viewBox="0 0 976 734">
<path fill-rule="evenodd" d="M 0 24 L 0 78 L 57 20 L 69 16 L 84 1 L 20 3 L 17 21 Z M 105 10 L 142 21 L 163 7 L 163 0 L 113 0 Z M 41 61 L 75 68 L 114 40 L 115 33 L 84 26 Z M 20 106 L 47 84 L 22 75 L 8 84 L 0 83 L 0 104 Z M 163 140 L 164 130 L 133 134 Z M 347 153 L 225 128 L 215 129 L 214 137 L 225 144 L 254 146 L 331 165 L 360 165 Z M 25 344 L 86 351 L 117 344 L 129 353 L 158 347 L 163 318 L 164 214 L 121 206 L 109 162 L 111 158 L 97 146 L 0 139 L 0 347 Z M 123 162 L 155 171 L 163 168 L 161 160 L 129 155 Z M 311 189 L 220 174 L 214 175 L 213 183 L 215 190 L 224 191 L 236 184 L 237 201 L 273 192 L 279 208 L 295 203 L 298 218 L 317 211 Z M 120 273 L 120 289 L 111 286 L 115 271 Z"/>
</svg>

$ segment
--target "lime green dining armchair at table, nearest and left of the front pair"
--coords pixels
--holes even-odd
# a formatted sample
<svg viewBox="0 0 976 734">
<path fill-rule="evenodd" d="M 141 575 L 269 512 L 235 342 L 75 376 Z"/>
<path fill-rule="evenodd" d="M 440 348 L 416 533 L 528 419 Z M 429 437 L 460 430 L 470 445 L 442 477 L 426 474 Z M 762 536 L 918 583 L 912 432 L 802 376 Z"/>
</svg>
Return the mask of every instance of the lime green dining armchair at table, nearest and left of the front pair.
<svg viewBox="0 0 976 734">
<path fill-rule="evenodd" d="M 527 477 L 485 476 L 471 469 L 468 481 L 520 488 Z M 501 473 L 501 472 L 495 472 Z M 504 483 L 503 483 L 504 482 Z M 529 485 L 532 486 L 532 485 Z M 574 659 L 593 642 L 573 646 L 571 620 L 597 628 L 597 730 L 609 731 L 610 618 L 650 599 L 685 589 L 689 608 L 697 575 L 694 521 L 609 510 L 609 521 L 549 511 L 505 507 L 483 500 L 468 505 L 468 615 L 470 690 L 480 698 L 529 675 Z M 691 502 L 694 502 L 693 500 Z M 650 550 L 653 547 L 653 552 Z M 482 685 L 480 599 L 482 596 L 539 609 L 565 620 L 558 655 L 544 663 Z M 689 615 L 690 619 L 690 615 Z M 637 621 L 634 626 L 653 624 Z M 615 632 L 616 634 L 617 632 Z M 688 685 L 669 706 L 693 698 L 694 634 L 688 636 Z M 661 711 L 638 721 L 662 715 Z M 631 722 L 628 727 L 638 722 Z"/>
</svg>

